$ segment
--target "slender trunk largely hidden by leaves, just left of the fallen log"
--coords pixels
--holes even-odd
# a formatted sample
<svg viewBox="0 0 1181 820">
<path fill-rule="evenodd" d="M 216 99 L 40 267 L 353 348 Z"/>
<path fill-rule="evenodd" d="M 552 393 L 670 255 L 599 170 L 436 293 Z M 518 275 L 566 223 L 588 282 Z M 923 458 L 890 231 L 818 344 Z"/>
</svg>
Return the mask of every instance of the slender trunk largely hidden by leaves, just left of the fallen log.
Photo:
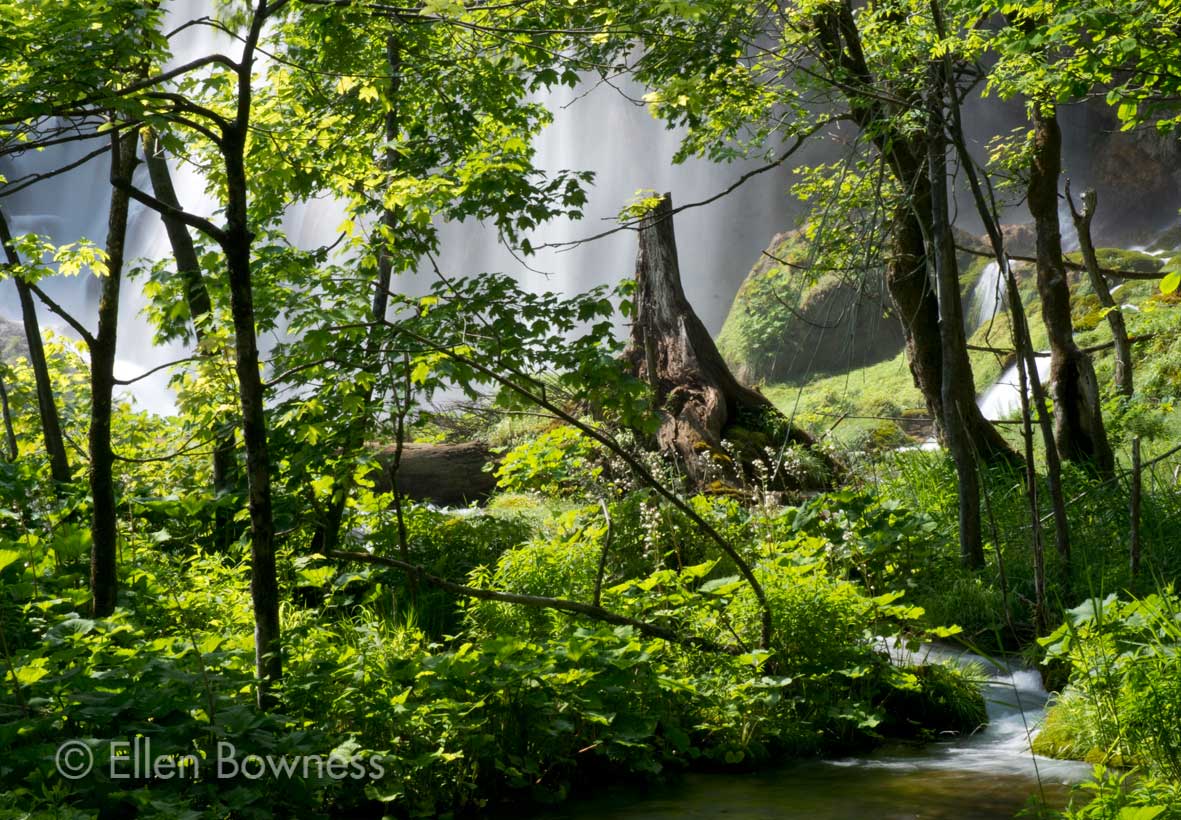
<svg viewBox="0 0 1181 820">
<path fill-rule="evenodd" d="M 385 115 L 385 141 L 390 148 L 386 149 L 384 157 L 385 170 L 392 171 L 398 161 L 398 154 L 393 149 L 393 142 L 398 138 L 400 131 L 400 125 L 398 121 L 398 92 L 402 87 L 402 50 L 398 45 L 397 38 L 390 35 L 385 44 L 386 51 L 386 64 L 390 70 L 390 110 Z M 384 327 L 385 314 L 390 307 L 390 287 L 393 282 L 393 255 L 390 253 L 389 248 L 394 241 L 396 230 L 398 228 L 398 210 L 394 208 L 389 208 L 381 215 L 380 227 L 378 229 L 378 246 L 380 250 L 377 255 L 377 281 L 373 285 L 373 302 L 370 310 L 370 315 L 373 319 L 373 330 L 368 334 L 368 339 L 365 341 L 365 360 L 372 362 L 378 353 L 380 347 L 380 332 Z M 363 411 L 365 423 L 357 423 L 350 428 L 348 441 L 345 444 L 346 458 L 351 458 L 353 451 L 365 443 L 365 435 L 368 431 L 368 405 L 373 401 L 373 383 L 370 382 L 368 386 L 361 389 L 360 397 L 364 399 L 365 410 Z M 409 396 L 407 396 L 409 401 Z M 400 422 L 399 422 L 400 424 Z M 399 445 L 400 447 L 400 445 Z M 397 458 L 396 461 L 400 461 Z M 335 549 L 340 542 L 340 525 L 344 520 L 345 505 L 348 501 L 348 494 L 352 492 L 353 484 L 353 471 L 351 469 L 342 470 L 337 475 L 337 480 L 333 486 L 332 497 L 328 500 L 328 509 L 325 513 L 324 521 L 317 529 L 315 534 L 312 536 L 312 546 L 314 552 L 327 552 L 328 549 Z M 398 520 L 402 521 L 402 500 L 399 490 L 394 486 L 393 488 L 394 499 L 397 502 Z M 405 558 L 405 557 L 404 557 Z"/>
</svg>

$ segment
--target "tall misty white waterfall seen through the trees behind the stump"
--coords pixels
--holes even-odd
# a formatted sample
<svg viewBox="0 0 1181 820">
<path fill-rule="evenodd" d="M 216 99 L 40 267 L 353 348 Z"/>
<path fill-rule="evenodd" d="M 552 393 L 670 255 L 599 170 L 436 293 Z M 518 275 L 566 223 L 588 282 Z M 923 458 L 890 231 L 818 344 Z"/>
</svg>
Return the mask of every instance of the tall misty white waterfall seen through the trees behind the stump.
<svg viewBox="0 0 1181 820">
<path fill-rule="evenodd" d="M 184 21 L 210 13 L 211 2 L 172 0 L 167 8 L 167 27 L 176 28 Z M 231 47 L 224 40 L 224 35 L 208 26 L 190 27 L 174 40 L 172 64 Z M 635 105 L 632 99 L 640 96 L 634 87 L 621 86 L 616 90 L 599 85 L 589 90 L 563 87 L 543 98 L 555 112 L 555 121 L 536 139 L 537 167 L 546 171 L 593 170 L 596 178 L 588 191 L 586 219 L 582 222 L 562 219 L 542 226 L 530 236 L 535 246 L 574 241 L 609 228 L 611 223 L 605 220 L 614 216 L 637 190 L 672 191 L 674 204 L 685 206 L 719 193 L 759 164 L 738 162 L 718 165 L 692 160 L 672 165 L 671 158 L 683 132 L 667 129 L 654 121 L 646 108 Z M 84 144 L 86 148 L 65 145 L 0 158 L 0 175 L 14 180 L 30 173 L 51 170 L 92 150 L 91 143 Z M 214 202 L 205 195 L 201 176 L 183 158 L 180 162 L 174 158 L 171 164 L 177 194 L 184 207 L 210 215 Z M 720 327 L 735 292 L 758 259 L 768 237 L 783 230 L 791 221 L 787 199 L 789 173 L 789 169 L 778 168 L 761 174 L 719 202 L 686 210 L 677 217 L 685 289 L 698 314 L 713 332 Z M 145 170 L 141 168 L 137 184 L 146 187 L 145 177 Z M 109 196 L 107 160 L 99 157 L 77 170 L 6 197 L 2 204 L 14 234 L 45 234 L 58 245 L 81 237 L 102 245 L 106 236 Z M 331 243 L 335 239 L 335 226 L 341 221 L 341 206 L 321 199 L 294 204 L 286 215 L 283 228 L 293 245 L 311 248 Z M 574 293 L 595 285 L 614 284 L 629 275 L 634 266 L 635 235 L 632 232 L 620 232 L 572 249 L 541 252 L 527 260 L 527 267 L 503 247 L 494 228 L 476 222 L 441 228 L 439 263 L 444 272 L 454 275 L 507 272 L 516 275 L 529 289 Z M 129 260 L 141 261 L 164 259 L 170 253 L 158 216 L 135 203 L 131 207 L 128 252 Z M 405 278 L 398 287 L 407 293 L 420 293 L 429 281 L 424 273 Z M 83 324 L 93 326 L 99 289 L 96 279 L 85 274 L 72 279 L 50 276 L 44 287 Z M 137 282 L 125 281 L 118 344 L 119 376 L 123 378 L 188 354 L 177 345 L 152 344 L 152 330 L 141 315 L 143 307 Z M 44 307 L 39 311 L 44 327 L 73 336 Z M 11 282 L 0 282 L 0 317 L 15 319 L 18 315 L 15 288 Z M 266 340 L 263 346 L 267 346 Z M 167 383 L 167 372 L 137 383 L 133 393 L 141 406 L 157 412 L 174 411 L 175 402 Z"/>
</svg>

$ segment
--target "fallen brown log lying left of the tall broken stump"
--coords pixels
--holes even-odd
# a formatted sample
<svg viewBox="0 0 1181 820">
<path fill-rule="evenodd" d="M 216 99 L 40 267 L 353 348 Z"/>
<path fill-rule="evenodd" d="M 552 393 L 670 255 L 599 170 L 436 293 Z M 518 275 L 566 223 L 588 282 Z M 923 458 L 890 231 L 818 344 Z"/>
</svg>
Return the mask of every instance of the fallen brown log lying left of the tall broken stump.
<svg viewBox="0 0 1181 820">
<path fill-rule="evenodd" d="M 393 454 L 393 447 L 377 454 L 383 469 L 370 477 L 377 482 L 378 492 L 391 489 Z M 497 461 L 498 457 L 481 442 L 404 444 L 397 475 L 398 489 L 415 501 L 430 501 L 444 507 L 466 506 L 483 501 L 496 489 L 491 466 Z"/>
</svg>

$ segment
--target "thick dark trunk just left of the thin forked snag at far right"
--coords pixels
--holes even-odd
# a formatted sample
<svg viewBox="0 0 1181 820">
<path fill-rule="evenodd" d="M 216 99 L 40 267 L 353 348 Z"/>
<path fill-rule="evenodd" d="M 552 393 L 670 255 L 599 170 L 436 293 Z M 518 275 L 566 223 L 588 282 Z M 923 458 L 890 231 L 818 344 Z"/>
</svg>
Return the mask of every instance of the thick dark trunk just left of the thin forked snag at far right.
<svg viewBox="0 0 1181 820">
<path fill-rule="evenodd" d="M 1055 443 L 1062 458 L 1089 464 L 1109 476 L 1115 470 L 1115 458 L 1103 429 L 1098 382 L 1090 358 L 1075 344 L 1070 318 L 1070 287 L 1058 224 L 1061 173 L 1062 131 L 1057 115 L 1052 105 L 1035 105 L 1029 207 L 1037 228 L 1042 319 L 1050 336 Z"/>
</svg>

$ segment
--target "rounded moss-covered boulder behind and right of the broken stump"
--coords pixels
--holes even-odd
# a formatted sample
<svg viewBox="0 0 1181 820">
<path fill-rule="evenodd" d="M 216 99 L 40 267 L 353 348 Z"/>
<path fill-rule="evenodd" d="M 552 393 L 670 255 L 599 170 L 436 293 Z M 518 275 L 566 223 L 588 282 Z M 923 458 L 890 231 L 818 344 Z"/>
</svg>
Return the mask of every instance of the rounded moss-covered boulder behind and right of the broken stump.
<svg viewBox="0 0 1181 820">
<path fill-rule="evenodd" d="M 880 269 L 815 275 L 808 261 L 798 232 L 779 234 L 738 289 L 718 349 L 740 380 L 842 372 L 902 350 Z"/>
</svg>

